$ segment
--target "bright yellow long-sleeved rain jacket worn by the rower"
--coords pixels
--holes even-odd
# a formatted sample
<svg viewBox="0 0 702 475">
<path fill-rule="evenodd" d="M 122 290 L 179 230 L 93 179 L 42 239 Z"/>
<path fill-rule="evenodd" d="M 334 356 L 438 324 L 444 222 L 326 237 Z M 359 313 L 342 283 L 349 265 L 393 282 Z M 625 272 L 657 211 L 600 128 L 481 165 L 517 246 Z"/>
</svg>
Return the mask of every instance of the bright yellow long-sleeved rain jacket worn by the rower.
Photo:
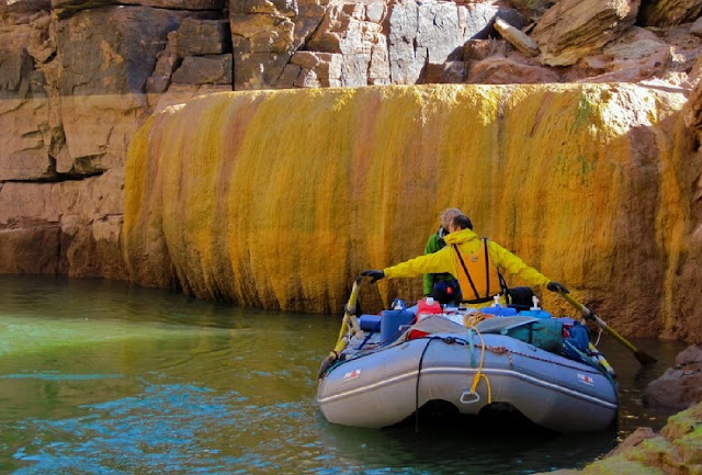
<svg viewBox="0 0 702 475">
<path fill-rule="evenodd" d="M 463 260 L 468 264 L 471 260 L 475 260 L 484 255 L 483 240 L 471 229 L 451 233 L 444 240 L 446 241 L 446 247 L 434 253 L 419 256 L 397 265 L 383 269 L 385 276 L 387 279 L 414 278 L 427 273 L 449 272 L 460 281 L 467 281 L 461 262 L 456 257 L 456 251 L 453 249 L 453 245 L 456 245 Z M 502 275 L 518 276 L 531 286 L 546 285 L 551 282 L 551 279 L 526 265 L 519 257 L 497 242 L 488 240 L 487 247 L 491 263 L 500 269 Z M 471 268 L 469 272 L 473 275 L 474 271 Z M 483 271 L 483 273 L 485 271 Z M 492 284 L 496 283 L 491 282 L 490 287 L 495 287 Z M 464 299 L 469 301 L 474 298 L 472 289 L 463 289 L 462 286 L 461 291 Z M 490 302 L 475 304 L 473 306 L 482 307 L 487 305 L 490 305 Z"/>
</svg>

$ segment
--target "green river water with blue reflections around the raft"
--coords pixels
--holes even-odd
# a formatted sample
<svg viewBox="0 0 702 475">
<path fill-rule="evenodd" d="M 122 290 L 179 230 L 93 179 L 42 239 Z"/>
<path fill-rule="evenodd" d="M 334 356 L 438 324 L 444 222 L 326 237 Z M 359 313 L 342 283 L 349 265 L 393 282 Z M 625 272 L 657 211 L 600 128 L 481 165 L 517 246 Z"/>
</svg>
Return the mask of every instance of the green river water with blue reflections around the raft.
<svg viewBox="0 0 702 475">
<path fill-rule="evenodd" d="M 645 385 L 684 346 L 635 341 L 616 431 L 332 426 L 315 374 L 339 317 L 240 309 L 99 280 L 0 276 L 0 473 L 526 474 L 581 467 L 665 414 Z M 367 408 L 372 410 L 372 408 Z"/>
</svg>

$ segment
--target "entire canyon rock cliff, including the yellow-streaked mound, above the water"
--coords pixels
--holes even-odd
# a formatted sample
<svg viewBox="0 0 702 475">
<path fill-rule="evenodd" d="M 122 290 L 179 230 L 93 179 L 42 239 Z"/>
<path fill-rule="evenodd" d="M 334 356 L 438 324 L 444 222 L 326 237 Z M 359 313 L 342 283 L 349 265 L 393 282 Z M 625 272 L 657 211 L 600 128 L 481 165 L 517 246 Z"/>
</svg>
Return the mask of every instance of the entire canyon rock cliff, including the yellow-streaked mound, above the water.
<svg viewBox="0 0 702 475">
<path fill-rule="evenodd" d="M 625 333 L 699 340 L 701 9 L 701 0 L 0 0 L 0 272 L 133 279 L 337 313 L 353 272 L 411 256 L 438 211 L 460 204 L 484 234 L 575 285 Z M 641 86 L 613 84 L 622 81 Z M 439 82 L 582 86 L 415 86 Z M 375 87 L 348 89 L 356 86 Z M 347 89 L 319 90 L 327 87 Z M 258 89 L 313 91 L 215 95 L 168 110 Z M 234 126 L 229 114 L 265 122 Z M 442 128 L 441 114 L 455 122 Z M 178 138 L 162 128 L 176 124 Z M 213 149 L 212 131 L 234 135 Z M 301 136 L 318 148 L 292 146 Z M 246 147 L 256 156 L 250 142 L 260 137 L 275 154 L 235 161 L 270 182 L 253 190 L 231 177 L 250 201 L 222 201 L 231 192 L 223 173 L 239 167 L 227 157 Z M 154 182 L 134 188 L 132 177 L 125 189 L 129 143 L 131 161 L 141 165 L 127 170 L 143 167 Z M 193 144 L 206 158 L 181 155 Z M 174 169 L 156 151 L 168 147 L 180 157 Z M 212 163 L 219 168 L 203 168 Z M 195 177 L 195 188 L 219 188 L 197 199 L 183 189 L 182 202 L 159 188 Z M 363 193 L 350 194 L 353 186 Z M 256 192 L 286 200 L 285 189 L 298 208 L 273 219 L 292 203 L 262 204 Z M 141 215 L 149 206 L 155 214 Z M 172 208 L 158 218 L 159 206 Z M 220 208 L 244 222 L 208 231 L 216 236 L 157 223 L 180 212 L 192 227 Z M 260 230 L 259 219 L 293 233 L 254 240 L 247 233 Z M 250 250 L 214 244 L 225 235 Z M 295 247 L 304 237 L 320 250 Z M 191 239 L 195 248 L 210 239 L 210 253 L 191 256 Z M 270 247 L 286 252 L 251 261 Z M 339 249 L 350 252 L 335 258 L 343 262 L 325 262 Z M 317 267 L 305 263 L 303 275 L 304 257 Z M 278 282 L 285 272 L 294 278 Z M 382 287 L 373 302 L 394 291 Z M 635 326 L 642 314 L 653 325 Z"/>
</svg>

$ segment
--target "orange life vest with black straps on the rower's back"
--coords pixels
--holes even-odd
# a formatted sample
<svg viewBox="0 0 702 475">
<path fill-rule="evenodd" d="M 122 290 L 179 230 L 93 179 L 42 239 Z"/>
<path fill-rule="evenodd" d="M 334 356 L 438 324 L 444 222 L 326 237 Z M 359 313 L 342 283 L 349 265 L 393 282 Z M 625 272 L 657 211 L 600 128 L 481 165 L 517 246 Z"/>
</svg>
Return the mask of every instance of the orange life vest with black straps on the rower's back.
<svg viewBox="0 0 702 475">
<path fill-rule="evenodd" d="M 458 267 L 458 285 L 463 294 L 463 302 L 467 304 L 483 304 L 502 293 L 502 275 L 492 263 L 487 249 L 487 238 L 482 238 L 483 249 L 471 256 L 463 256 L 456 245 L 455 251 Z"/>
</svg>

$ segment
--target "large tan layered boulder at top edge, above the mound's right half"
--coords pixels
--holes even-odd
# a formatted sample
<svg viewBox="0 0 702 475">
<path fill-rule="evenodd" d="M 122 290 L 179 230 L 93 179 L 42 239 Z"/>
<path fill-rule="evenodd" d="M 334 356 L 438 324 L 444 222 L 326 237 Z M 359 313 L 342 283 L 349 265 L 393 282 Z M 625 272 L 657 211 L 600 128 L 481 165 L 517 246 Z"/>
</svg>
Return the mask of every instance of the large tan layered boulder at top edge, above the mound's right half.
<svg viewBox="0 0 702 475">
<path fill-rule="evenodd" d="M 541 63 L 568 66 L 599 53 L 636 21 L 641 0 L 561 0 L 531 32 Z"/>
</svg>

